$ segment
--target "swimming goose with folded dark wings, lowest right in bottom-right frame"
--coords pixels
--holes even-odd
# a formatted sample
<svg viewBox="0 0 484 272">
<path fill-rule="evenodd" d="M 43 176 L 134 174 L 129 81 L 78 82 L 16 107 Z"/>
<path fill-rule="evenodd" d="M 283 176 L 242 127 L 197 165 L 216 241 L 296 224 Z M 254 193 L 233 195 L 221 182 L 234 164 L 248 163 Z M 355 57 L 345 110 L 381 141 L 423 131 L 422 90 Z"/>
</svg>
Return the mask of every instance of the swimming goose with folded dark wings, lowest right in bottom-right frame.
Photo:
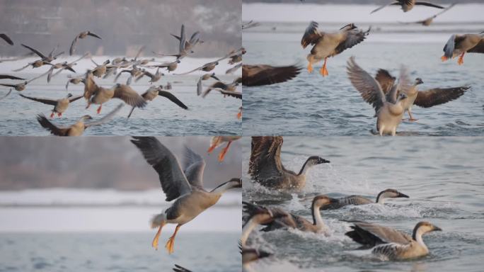
<svg viewBox="0 0 484 272">
<path fill-rule="evenodd" d="M 418 222 L 410 235 L 399 232 L 391 227 L 371 223 L 358 222 L 352 226 L 352 231 L 345 235 L 364 247 L 373 247 L 371 253 L 384 256 L 390 260 L 413 259 L 429 254 L 429 249 L 422 239 L 428 232 L 442 231 L 430 222 Z"/>
</svg>

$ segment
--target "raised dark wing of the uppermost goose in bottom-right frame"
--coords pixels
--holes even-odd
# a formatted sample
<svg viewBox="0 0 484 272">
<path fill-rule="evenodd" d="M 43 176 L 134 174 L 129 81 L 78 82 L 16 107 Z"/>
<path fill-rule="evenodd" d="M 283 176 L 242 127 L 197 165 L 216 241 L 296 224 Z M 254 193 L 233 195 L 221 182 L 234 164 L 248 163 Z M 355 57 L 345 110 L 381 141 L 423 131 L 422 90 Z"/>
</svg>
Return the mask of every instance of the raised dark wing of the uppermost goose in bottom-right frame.
<svg viewBox="0 0 484 272">
<path fill-rule="evenodd" d="M 252 137 L 249 171 L 253 179 L 281 176 L 282 136 Z"/>
</svg>

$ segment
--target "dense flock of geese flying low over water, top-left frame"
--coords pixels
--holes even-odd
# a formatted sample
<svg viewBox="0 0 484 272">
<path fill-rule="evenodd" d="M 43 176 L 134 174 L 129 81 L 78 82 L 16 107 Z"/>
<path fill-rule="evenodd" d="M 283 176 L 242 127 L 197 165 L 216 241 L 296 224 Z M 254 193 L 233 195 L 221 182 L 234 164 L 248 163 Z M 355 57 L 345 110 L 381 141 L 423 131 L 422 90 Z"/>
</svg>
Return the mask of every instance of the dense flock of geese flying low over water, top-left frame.
<svg viewBox="0 0 484 272">
<path fill-rule="evenodd" d="M 81 83 L 84 84 L 84 91 L 82 95 L 74 96 L 72 94 L 68 94 L 67 97 L 64 97 L 64 98 L 38 98 L 35 96 L 26 96 L 23 94 L 20 94 L 20 96 L 23 98 L 29 99 L 31 101 L 36 101 L 36 102 L 53 106 L 52 114 L 50 115 L 50 118 L 54 118 L 54 115 L 56 114 L 58 117 L 62 117 L 62 113 L 67 111 L 67 109 L 69 108 L 69 104 L 79 100 L 79 98 L 84 98 L 86 100 L 87 102 L 86 109 L 89 108 L 91 104 L 99 105 L 97 108 L 98 114 L 102 110 L 103 104 L 108 103 L 108 101 L 112 100 L 113 98 L 117 98 L 123 101 L 123 103 L 121 103 L 120 106 L 117 106 L 113 111 L 105 115 L 103 118 L 100 118 L 99 120 L 87 122 L 87 120 L 91 120 L 93 118 L 90 115 L 83 115 L 81 118 L 79 118 L 79 120 L 76 123 L 74 123 L 73 125 L 69 125 L 67 127 L 59 127 L 54 123 L 52 123 L 48 118 L 46 118 L 45 115 L 39 114 L 37 116 L 37 119 L 40 125 L 42 126 L 42 128 L 45 128 L 46 130 L 50 131 L 50 133 L 52 133 L 53 135 L 58 135 L 58 136 L 79 136 L 79 135 L 82 135 L 84 130 L 86 130 L 86 128 L 90 126 L 102 125 L 103 123 L 107 123 L 115 116 L 117 111 L 120 111 L 120 108 L 125 103 L 132 107 L 131 111 L 129 112 L 129 115 L 127 116 L 127 118 L 129 118 L 132 115 L 134 108 L 144 108 L 146 107 L 148 101 L 153 101 L 158 96 L 163 96 L 164 98 L 167 98 L 169 101 L 175 103 L 180 108 L 183 108 L 186 110 L 188 109 L 188 106 L 186 106 L 185 103 L 180 101 L 170 91 L 171 84 L 169 82 L 168 84 L 166 84 L 166 86 L 163 86 L 163 85 L 156 86 L 154 84 L 165 75 L 163 74 L 163 72 L 161 72 L 161 69 L 166 69 L 168 73 L 175 72 L 175 70 L 177 70 L 178 68 L 178 64 L 180 64 L 182 59 L 192 54 L 194 52 L 193 50 L 195 49 L 195 46 L 201 45 L 204 41 L 200 39 L 200 33 L 198 31 L 193 33 L 191 37 L 188 38 L 188 36 L 185 33 L 185 26 L 183 25 L 181 26 L 179 35 L 173 35 L 173 34 L 171 35 L 178 40 L 178 52 L 174 54 L 160 54 L 157 52 L 154 52 L 154 53 L 161 57 L 175 57 L 175 60 L 173 60 L 172 62 L 160 63 L 160 62 L 157 62 L 156 59 L 154 58 L 151 58 L 151 59 L 140 58 L 139 56 L 144 50 L 144 47 L 141 47 L 137 52 L 137 55 L 134 57 L 134 59 L 131 59 L 131 60 L 128 60 L 127 57 L 117 57 L 113 60 L 106 60 L 102 64 L 98 64 L 94 62 L 94 60 L 92 60 L 91 58 L 91 61 L 93 62 L 92 69 L 88 69 L 86 73 L 80 76 L 71 77 L 69 75 L 67 79 L 66 90 L 68 90 L 69 84 L 81 84 Z M 76 52 L 76 47 L 79 44 L 80 40 L 88 37 L 102 40 L 100 35 L 97 35 L 96 33 L 93 33 L 91 31 L 83 31 L 78 35 L 76 35 L 74 40 L 72 40 L 71 46 L 69 47 L 69 55 L 74 55 Z M 14 45 L 13 40 L 11 40 L 11 38 L 9 38 L 8 35 L 6 35 L 5 33 L 1 33 L 0 38 L 4 40 L 8 45 Z M 31 54 L 37 55 L 39 59 L 35 60 L 34 62 L 29 62 L 24 67 L 13 70 L 13 72 L 21 72 L 23 69 L 27 67 L 32 67 L 33 69 L 35 69 L 45 65 L 50 66 L 50 69 L 48 69 L 48 71 L 45 72 L 44 74 L 40 74 L 40 76 L 35 77 L 33 79 L 28 79 L 28 80 L 23 79 L 21 77 L 16 77 L 14 75 L 1 74 L 0 79 L 16 80 L 21 82 L 20 83 L 0 82 L 0 86 L 6 86 L 8 88 L 11 88 L 7 94 L 0 97 L 0 100 L 6 98 L 9 94 L 11 94 L 12 89 L 19 92 L 24 91 L 25 89 L 28 89 L 28 84 L 30 84 L 30 82 L 36 79 L 40 79 L 41 77 L 47 76 L 47 83 L 49 83 L 53 77 L 56 77 L 57 74 L 59 74 L 64 70 L 68 70 L 70 72 L 76 73 L 76 70 L 74 69 L 76 62 L 79 62 L 80 60 L 83 60 L 86 57 L 90 57 L 91 55 L 90 53 L 86 53 L 82 57 L 79 57 L 79 59 L 74 60 L 74 62 L 64 61 L 64 62 L 54 63 L 54 60 L 57 60 L 59 56 L 64 54 L 64 52 L 57 52 L 57 47 L 55 47 L 51 52 L 49 52 L 49 54 L 44 54 L 40 52 L 40 50 L 36 50 L 35 48 L 30 47 L 28 45 L 22 44 L 21 46 L 28 49 L 31 52 Z M 203 64 L 201 67 L 197 67 L 188 72 L 183 72 L 179 74 L 173 73 L 173 75 L 191 74 L 197 71 L 207 72 L 206 74 L 202 74 L 200 78 L 197 80 L 197 87 L 196 87 L 197 96 L 202 96 L 202 98 L 205 98 L 210 93 L 210 91 L 218 91 L 224 97 L 230 96 L 233 98 L 242 99 L 242 93 L 240 91 L 237 91 L 237 86 L 242 82 L 241 77 L 238 77 L 232 82 L 223 82 L 215 75 L 213 70 L 215 69 L 215 67 L 217 67 L 217 65 L 222 60 L 228 59 L 229 64 L 233 65 L 233 67 L 231 67 L 226 72 L 226 74 L 232 74 L 236 72 L 237 69 L 241 68 L 242 55 L 245 53 L 246 51 L 243 48 L 240 48 L 238 50 L 232 50 L 224 57 L 214 60 L 213 62 Z M 25 55 L 23 57 L 28 57 L 28 56 L 30 55 Z M 16 59 L 0 60 L 0 62 L 19 60 L 23 57 L 16 58 Z M 149 69 L 156 69 L 156 70 L 150 71 Z M 98 83 L 96 83 L 96 78 L 105 79 L 111 76 L 113 77 L 115 76 L 114 81 L 116 82 L 117 79 L 119 79 L 120 75 L 122 74 L 129 74 L 126 84 L 116 83 L 114 86 L 105 87 L 105 86 L 100 86 Z M 139 79 L 142 79 L 143 77 L 149 78 L 149 84 L 153 84 L 153 85 L 150 86 L 149 89 L 147 89 L 143 94 L 138 94 L 138 92 L 132 89 L 132 87 L 129 85 L 131 84 L 133 79 L 134 81 L 139 81 Z M 202 91 L 203 89 L 202 81 L 207 81 L 209 79 L 214 79 L 215 82 L 211 84 L 207 89 Z M 239 112 L 236 116 L 238 119 L 241 118 L 242 116 L 241 107 L 239 108 Z"/>
</svg>

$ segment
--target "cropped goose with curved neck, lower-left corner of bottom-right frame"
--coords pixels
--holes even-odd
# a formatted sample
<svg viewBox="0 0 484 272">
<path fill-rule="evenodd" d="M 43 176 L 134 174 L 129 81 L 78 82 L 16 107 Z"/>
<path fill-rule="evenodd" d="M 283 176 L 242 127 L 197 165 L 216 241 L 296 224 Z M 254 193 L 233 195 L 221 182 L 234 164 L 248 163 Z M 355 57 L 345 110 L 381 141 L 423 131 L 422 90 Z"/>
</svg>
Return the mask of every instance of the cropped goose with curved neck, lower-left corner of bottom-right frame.
<svg viewBox="0 0 484 272">
<path fill-rule="evenodd" d="M 253 208 L 250 217 L 242 227 L 240 248 L 242 253 L 242 263 L 244 266 L 251 261 L 257 261 L 258 259 L 263 259 L 272 255 L 266 251 L 248 247 L 247 240 L 250 233 L 253 231 L 253 229 L 255 229 L 255 227 L 257 227 L 258 225 L 270 224 L 273 220 L 281 216 L 285 215 L 281 213 L 277 215 L 272 215 L 272 212 L 270 210 L 267 210 L 266 208 L 257 205 Z"/>
</svg>

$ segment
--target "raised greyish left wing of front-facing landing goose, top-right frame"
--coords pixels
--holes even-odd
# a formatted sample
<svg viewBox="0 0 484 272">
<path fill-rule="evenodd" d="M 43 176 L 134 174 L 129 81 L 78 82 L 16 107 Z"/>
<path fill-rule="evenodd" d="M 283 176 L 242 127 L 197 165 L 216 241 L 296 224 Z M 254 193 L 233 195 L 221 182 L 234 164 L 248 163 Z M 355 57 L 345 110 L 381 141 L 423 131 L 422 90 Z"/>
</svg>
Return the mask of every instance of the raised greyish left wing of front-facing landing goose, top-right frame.
<svg viewBox="0 0 484 272">
<path fill-rule="evenodd" d="M 378 112 L 386 101 L 378 81 L 356 64 L 355 57 L 350 57 L 347 62 L 347 74 L 351 84 L 359 91 L 364 101 L 370 103 L 375 112 Z"/>
</svg>

